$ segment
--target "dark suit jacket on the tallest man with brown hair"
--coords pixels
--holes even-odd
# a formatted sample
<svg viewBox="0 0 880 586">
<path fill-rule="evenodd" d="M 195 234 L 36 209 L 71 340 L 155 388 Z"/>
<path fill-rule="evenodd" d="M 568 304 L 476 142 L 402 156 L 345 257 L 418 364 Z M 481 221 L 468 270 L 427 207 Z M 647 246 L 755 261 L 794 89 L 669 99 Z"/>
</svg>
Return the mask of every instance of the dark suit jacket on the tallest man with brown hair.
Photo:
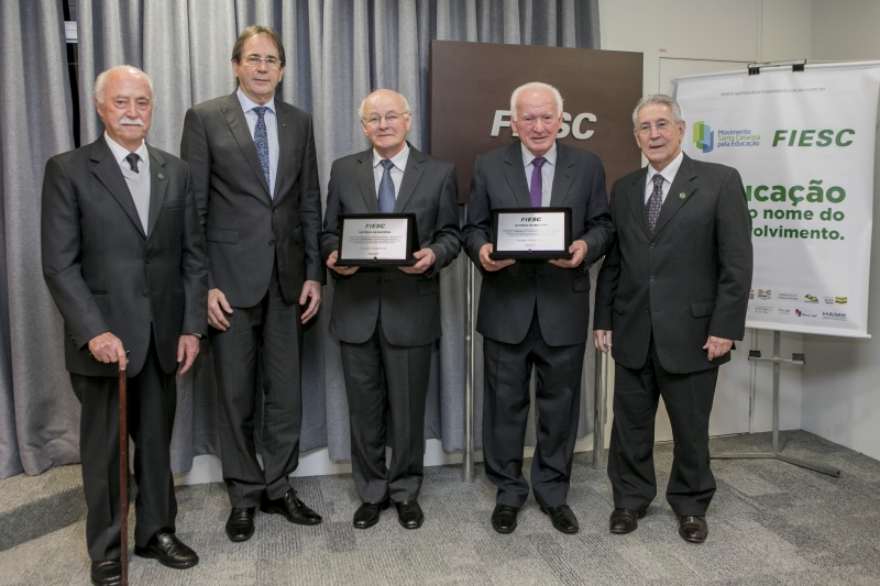
<svg viewBox="0 0 880 586">
<path fill-rule="evenodd" d="M 311 117 L 275 99 L 278 176 L 274 199 L 260 166 L 237 93 L 189 109 L 180 156 L 208 243 L 209 287 L 233 307 L 253 307 L 268 289 L 275 258 L 288 303 L 298 302 L 306 279 L 324 281 L 318 252 L 321 192 Z"/>
</svg>

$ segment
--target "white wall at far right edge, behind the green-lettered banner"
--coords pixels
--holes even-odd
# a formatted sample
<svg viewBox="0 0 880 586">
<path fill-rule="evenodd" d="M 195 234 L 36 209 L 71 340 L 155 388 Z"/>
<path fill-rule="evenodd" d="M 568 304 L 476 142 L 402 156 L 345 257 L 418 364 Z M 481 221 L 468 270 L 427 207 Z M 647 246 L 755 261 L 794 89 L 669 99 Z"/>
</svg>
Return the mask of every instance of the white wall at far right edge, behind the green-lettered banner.
<svg viewBox="0 0 880 586">
<path fill-rule="evenodd" d="M 814 0 L 812 57 L 817 60 L 880 59 L 880 2 Z M 880 144 L 880 143 L 879 143 Z M 880 150 L 878 150 L 880 152 Z M 880 156 L 875 169 L 880 168 Z M 875 170 L 875 209 L 880 175 Z M 876 215 L 875 211 L 875 215 Z M 871 240 L 868 333 L 872 340 L 804 336 L 803 429 L 880 458 L 880 226 Z"/>
</svg>

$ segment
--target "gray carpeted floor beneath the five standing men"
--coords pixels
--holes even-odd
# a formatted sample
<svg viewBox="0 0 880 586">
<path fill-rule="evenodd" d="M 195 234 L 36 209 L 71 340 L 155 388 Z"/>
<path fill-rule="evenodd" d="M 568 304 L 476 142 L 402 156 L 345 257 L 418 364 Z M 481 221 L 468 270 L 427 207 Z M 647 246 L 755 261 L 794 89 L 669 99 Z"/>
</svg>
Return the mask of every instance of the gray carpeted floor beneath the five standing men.
<svg viewBox="0 0 880 586">
<path fill-rule="evenodd" d="M 769 441 L 761 433 L 712 446 L 749 451 Z M 574 461 L 576 535 L 553 530 L 531 499 L 516 532 L 495 533 L 494 487 L 480 468 L 473 484 L 458 466 L 427 469 L 418 531 L 399 527 L 392 510 L 355 530 L 351 475 L 299 478 L 302 500 L 324 522 L 306 528 L 257 513 L 256 534 L 243 544 L 223 533 L 222 484 L 180 487 L 178 534 L 201 562 L 182 572 L 132 556 L 131 584 L 880 584 L 880 462 L 802 431 L 785 453 L 837 466 L 843 477 L 769 460 L 714 461 L 718 491 L 702 545 L 679 538 L 662 496 L 635 533 L 608 533 L 610 486 L 591 453 Z M 664 487 L 672 445 L 659 444 L 656 456 Z M 84 518 L 79 466 L 0 482 L 0 585 L 88 584 Z"/>
</svg>

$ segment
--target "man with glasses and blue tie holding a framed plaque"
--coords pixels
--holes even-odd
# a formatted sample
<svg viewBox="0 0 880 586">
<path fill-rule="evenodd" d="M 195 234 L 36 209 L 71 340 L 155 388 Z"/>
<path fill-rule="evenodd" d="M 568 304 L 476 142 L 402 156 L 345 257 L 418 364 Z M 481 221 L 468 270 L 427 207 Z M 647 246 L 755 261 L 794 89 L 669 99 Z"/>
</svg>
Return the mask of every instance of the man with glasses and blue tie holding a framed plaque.
<svg viewBox="0 0 880 586">
<path fill-rule="evenodd" d="M 372 148 L 333 162 L 321 234 L 336 279 L 330 333 L 340 341 L 362 501 L 353 524 L 376 524 L 393 501 L 400 524 L 418 529 L 438 276 L 461 250 L 455 167 L 406 142 L 411 113 L 399 93 L 374 91 L 359 114 Z"/>
</svg>

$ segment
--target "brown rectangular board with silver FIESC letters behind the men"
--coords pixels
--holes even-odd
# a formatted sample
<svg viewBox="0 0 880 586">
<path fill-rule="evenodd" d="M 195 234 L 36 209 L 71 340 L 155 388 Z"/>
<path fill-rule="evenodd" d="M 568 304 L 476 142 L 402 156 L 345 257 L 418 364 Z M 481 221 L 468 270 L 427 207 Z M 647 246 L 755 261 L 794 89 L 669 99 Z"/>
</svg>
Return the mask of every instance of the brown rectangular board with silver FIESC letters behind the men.
<svg viewBox="0 0 880 586">
<path fill-rule="evenodd" d="M 433 41 L 429 78 L 430 152 L 455 164 L 462 203 L 476 156 L 516 140 L 510 93 L 528 81 L 559 88 L 559 139 L 602 158 L 609 191 L 641 166 L 631 119 L 641 53 Z"/>
</svg>

